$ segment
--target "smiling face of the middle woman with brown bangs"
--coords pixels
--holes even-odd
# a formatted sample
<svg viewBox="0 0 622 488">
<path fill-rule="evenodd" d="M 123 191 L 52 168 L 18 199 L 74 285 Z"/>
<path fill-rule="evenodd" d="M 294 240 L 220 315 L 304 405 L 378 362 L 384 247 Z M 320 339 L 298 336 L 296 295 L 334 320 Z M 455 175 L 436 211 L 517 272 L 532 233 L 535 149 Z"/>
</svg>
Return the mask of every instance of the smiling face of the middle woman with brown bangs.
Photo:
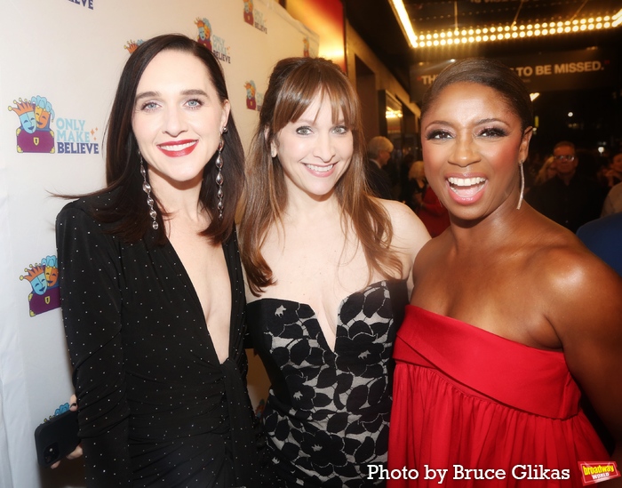
<svg viewBox="0 0 622 488">
<path fill-rule="evenodd" d="M 276 134 L 272 149 L 283 166 L 288 195 L 302 191 L 320 200 L 333 194 L 346 172 L 354 142 L 341 110 L 333 120 L 331 102 L 318 95 L 297 121 Z"/>
</svg>

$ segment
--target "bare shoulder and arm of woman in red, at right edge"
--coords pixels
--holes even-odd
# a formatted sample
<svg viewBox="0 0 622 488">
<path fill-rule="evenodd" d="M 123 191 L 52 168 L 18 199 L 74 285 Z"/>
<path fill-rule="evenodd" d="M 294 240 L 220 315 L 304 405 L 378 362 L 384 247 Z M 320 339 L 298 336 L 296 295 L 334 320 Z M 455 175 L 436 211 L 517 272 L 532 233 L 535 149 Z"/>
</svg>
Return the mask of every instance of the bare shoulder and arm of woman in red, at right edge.
<svg viewBox="0 0 622 488">
<path fill-rule="evenodd" d="M 622 438 L 622 277 L 564 233 L 534 253 L 538 305 L 573 378 L 610 432 Z M 533 296 L 533 295 L 532 295 Z"/>
</svg>

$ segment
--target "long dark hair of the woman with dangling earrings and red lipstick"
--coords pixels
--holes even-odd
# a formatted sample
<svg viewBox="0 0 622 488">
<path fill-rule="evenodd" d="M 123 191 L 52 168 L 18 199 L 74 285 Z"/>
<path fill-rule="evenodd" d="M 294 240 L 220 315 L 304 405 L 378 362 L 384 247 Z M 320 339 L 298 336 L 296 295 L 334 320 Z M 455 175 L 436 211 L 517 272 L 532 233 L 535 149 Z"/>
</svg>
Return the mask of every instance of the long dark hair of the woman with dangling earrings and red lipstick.
<svg viewBox="0 0 622 488">
<path fill-rule="evenodd" d="M 136 138 L 132 132 L 132 112 L 136 90 L 145 68 L 159 52 L 187 52 L 201 60 L 209 73 L 211 83 L 218 92 L 220 103 L 228 100 L 227 85 L 219 61 L 209 49 L 187 36 L 166 34 L 156 36 L 140 44 L 125 63 L 115 100 L 110 111 L 106 131 L 106 188 L 92 195 L 103 195 L 112 190 L 114 199 L 102 208 L 92 209 L 93 217 L 100 222 L 114 224 L 111 232 L 127 242 L 140 240 L 149 231 L 152 219 L 149 216 L 147 196 L 142 190 L 140 174 L 140 155 Z M 221 157 L 224 162 L 223 217 L 219 219 L 218 196 L 215 183 L 217 170 L 215 164 L 206 164 L 203 170 L 203 183 L 199 200 L 209 213 L 211 222 L 203 230 L 203 235 L 211 238 L 213 244 L 220 244 L 231 234 L 235 221 L 235 210 L 244 184 L 244 154 L 242 141 L 235 127 L 233 114 L 229 113 L 227 132 L 222 134 L 224 148 Z M 214 158 L 212 157 L 212 160 Z M 207 162 L 206 162 L 207 163 Z M 157 195 L 152 193 L 157 211 L 159 228 L 157 241 L 166 239 L 163 226 L 163 209 L 158 205 Z M 164 214 L 164 216 L 166 216 Z"/>
</svg>

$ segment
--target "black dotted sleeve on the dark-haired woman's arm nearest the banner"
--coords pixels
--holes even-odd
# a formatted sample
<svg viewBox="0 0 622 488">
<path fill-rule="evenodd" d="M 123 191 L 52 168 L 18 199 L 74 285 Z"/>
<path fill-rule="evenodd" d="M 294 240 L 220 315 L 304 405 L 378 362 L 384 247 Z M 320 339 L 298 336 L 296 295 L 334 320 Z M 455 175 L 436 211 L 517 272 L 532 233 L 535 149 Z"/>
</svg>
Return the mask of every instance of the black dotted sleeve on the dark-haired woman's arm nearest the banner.
<svg viewBox="0 0 622 488">
<path fill-rule="evenodd" d="M 84 205 L 56 221 L 60 297 L 89 488 L 132 486 L 122 329 L 123 272 L 115 238 Z"/>
</svg>

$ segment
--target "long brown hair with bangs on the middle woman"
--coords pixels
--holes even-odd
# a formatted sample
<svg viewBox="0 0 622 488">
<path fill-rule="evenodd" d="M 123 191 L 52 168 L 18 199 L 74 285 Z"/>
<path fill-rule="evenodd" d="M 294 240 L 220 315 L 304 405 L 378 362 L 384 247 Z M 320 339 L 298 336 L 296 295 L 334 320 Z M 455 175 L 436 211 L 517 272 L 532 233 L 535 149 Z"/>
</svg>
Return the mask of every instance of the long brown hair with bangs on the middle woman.
<svg viewBox="0 0 622 488">
<path fill-rule="evenodd" d="M 272 270 L 261 254 L 269 228 L 283 221 L 287 187 L 283 166 L 270 156 L 278 132 L 296 121 L 315 97 L 330 100 L 332 118 L 339 110 L 353 135 L 354 152 L 346 172 L 335 184 L 344 228 L 354 228 L 370 268 L 383 276 L 399 272 L 400 261 L 391 252 L 393 227 L 385 208 L 368 194 L 365 180 L 365 140 L 361 108 L 355 89 L 340 68 L 322 58 L 288 58 L 276 63 L 259 112 L 257 132 L 248 158 L 248 195 L 240 224 L 241 254 L 247 283 L 254 294 L 275 284 Z"/>
</svg>

